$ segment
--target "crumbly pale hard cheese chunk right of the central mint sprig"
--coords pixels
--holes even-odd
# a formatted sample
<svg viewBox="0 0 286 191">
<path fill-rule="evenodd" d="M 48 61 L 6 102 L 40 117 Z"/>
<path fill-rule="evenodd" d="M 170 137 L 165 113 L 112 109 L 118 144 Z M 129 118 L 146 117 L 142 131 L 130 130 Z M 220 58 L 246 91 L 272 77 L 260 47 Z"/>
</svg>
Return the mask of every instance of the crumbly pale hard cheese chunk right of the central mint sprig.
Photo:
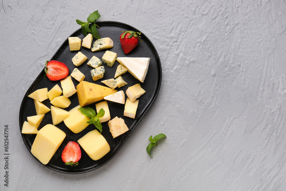
<svg viewBox="0 0 286 191">
<path fill-rule="evenodd" d="M 113 138 L 118 137 L 129 130 L 127 125 L 124 123 L 124 119 L 118 118 L 117 116 L 108 121 L 107 124 Z"/>
</svg>

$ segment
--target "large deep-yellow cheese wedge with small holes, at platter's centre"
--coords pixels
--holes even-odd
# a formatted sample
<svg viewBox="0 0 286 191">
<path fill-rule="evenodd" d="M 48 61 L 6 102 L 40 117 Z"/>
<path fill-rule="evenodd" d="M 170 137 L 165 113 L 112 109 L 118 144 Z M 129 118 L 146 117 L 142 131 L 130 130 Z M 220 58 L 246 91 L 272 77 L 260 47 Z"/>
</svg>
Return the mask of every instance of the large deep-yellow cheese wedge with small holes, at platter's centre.
<svg viewBox="0 0 286 191">
<path fill-rule="evenodd" d="M 80 107 L 103 100 L 107 95 L 117 92 L 112 88 L 82 81 L 76 86 Z"/>
</svg>

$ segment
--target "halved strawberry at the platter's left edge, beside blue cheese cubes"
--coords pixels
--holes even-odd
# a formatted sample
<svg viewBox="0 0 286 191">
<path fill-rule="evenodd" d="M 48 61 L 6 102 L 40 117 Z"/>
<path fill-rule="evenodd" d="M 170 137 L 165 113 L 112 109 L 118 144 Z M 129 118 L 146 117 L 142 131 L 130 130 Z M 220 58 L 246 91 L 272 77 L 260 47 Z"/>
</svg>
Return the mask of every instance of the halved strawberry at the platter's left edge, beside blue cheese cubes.
<svg viewBox="0 0 286 191">
<path fill-rule="evenodd" d="M 67 77 L 69 69 L 64 63 L 51 60 L 46 62 L 45 72 L 50 80 L 55 81 Z"/>
</svg>

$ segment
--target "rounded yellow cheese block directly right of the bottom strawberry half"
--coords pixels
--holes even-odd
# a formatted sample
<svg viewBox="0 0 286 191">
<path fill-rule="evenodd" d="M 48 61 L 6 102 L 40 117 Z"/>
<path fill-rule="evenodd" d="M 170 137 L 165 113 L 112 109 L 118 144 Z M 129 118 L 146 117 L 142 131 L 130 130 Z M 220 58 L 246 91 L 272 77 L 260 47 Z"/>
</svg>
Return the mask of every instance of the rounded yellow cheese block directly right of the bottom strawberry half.
<svg viewBox="0 0 286 191">
<path fill-rule="evenodd" d="M 106 139 L 97 130 L 88 132 L 78 143 L 92 160 L 99 160 L 110 151 Z"/>
</svg>

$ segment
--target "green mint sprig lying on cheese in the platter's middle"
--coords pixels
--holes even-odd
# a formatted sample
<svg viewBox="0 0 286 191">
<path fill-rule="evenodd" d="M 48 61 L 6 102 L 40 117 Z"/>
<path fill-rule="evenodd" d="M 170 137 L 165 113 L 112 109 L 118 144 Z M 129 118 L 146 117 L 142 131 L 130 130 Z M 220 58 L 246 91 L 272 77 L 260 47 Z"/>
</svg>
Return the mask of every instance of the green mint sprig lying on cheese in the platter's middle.
<svg viewBox="0 0 286 191">
<path fill-rule="evenodd" d="M 104 116 L 104 109 L 101 108 L 99 111 L 98 111 L 98 114 L 96 114 L 96 112 L 94 111 L 94 109 L 92 109 L 91 107 L 80 107 L 78 108 L 80 110 L 80 112 L 82 114 L 84 114 L 86 117 L 89 117 L 90 120 L 87 121 L 86 123 L 89 123 L 89 124 L 94 124 L 94 126 L 100 130 L 100 133 L 102 132 L 102 125 L 100 123 L 100 119 L 99 117 L 103 117 Z"/>
</svg>

